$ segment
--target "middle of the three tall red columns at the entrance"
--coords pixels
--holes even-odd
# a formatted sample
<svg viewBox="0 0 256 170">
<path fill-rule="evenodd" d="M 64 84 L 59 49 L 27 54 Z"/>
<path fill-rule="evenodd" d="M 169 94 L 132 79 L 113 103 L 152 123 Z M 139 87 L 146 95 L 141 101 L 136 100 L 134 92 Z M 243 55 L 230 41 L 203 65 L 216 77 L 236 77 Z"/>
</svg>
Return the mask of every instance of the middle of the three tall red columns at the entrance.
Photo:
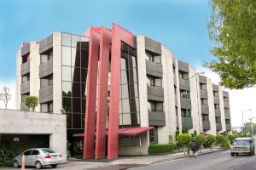
<svg viewBox="0 0 256 170">
<path fill-rule="evenodd" d="M 99 85 L 96 116 L 96 150 L 95 158 L 105 158 L 106 125 L 108 112 L 108 60 L 111 43 L 111 32 L 102 28 L 100 37 Z"/>
</svg>

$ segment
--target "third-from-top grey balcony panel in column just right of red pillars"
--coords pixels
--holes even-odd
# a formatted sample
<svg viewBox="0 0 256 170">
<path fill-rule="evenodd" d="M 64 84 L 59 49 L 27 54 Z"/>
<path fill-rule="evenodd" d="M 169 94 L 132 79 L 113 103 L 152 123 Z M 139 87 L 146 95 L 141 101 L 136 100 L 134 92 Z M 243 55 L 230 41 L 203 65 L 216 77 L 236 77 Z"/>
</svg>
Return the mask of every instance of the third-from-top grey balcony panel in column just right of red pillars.
<svg viewBox="0 0 256 170">
<path fill-rule="evenodd" d="M 148 86 L 148 99 L 164 101 L 164 88 Z"/>
</svg>

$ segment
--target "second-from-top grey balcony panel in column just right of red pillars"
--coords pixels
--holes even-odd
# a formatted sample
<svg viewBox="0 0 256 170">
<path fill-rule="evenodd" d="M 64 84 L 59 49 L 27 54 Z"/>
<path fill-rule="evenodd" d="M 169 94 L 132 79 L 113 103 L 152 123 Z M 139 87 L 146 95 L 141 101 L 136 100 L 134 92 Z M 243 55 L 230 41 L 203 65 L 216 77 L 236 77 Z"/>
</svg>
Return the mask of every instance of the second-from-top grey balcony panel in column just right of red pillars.
<svg viewBox="0 0 256 170">
<path fill-rule="evenodd" d="M 163 68 L 159 63 L 154 63 L 146 60 L 147 74 L 154 77 L 163 77 Z"/>
</svg>

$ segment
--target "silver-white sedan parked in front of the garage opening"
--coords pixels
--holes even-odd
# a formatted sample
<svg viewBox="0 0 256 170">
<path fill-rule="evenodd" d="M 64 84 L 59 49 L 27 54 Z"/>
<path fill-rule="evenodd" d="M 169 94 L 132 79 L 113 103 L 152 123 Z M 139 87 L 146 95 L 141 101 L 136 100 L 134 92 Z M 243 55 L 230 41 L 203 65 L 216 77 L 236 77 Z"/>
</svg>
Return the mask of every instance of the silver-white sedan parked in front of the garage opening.
<svg viewBox="0 0 256 170">
<path fill-rule="evenodd" d="M 15 156 L 13 161 L 15 168 L 21 166 L 23 154 L 25 155 L 25 166 L 35 166 L 37 169 L 41 169 L 44 166 L 57 167 L 58 164 L 62 163 L 60 153 L 48 148 L 35 148 L 25 150 L 21 155 Z"/>
</svg>

